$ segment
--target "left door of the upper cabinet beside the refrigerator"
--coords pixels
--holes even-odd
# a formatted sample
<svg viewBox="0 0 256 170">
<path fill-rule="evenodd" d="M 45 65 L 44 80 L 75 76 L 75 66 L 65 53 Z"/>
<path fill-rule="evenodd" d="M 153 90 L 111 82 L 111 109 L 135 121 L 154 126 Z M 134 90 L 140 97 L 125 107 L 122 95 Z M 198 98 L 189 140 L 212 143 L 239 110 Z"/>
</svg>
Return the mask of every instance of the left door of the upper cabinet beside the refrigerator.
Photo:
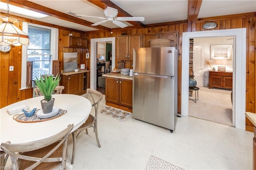
<svg viewBox="0 0 256 170">
<path fill-rule="evenodd" d="M 128 36 L 117 38 L 117 58 L 128 59 Z"/>
</svg>

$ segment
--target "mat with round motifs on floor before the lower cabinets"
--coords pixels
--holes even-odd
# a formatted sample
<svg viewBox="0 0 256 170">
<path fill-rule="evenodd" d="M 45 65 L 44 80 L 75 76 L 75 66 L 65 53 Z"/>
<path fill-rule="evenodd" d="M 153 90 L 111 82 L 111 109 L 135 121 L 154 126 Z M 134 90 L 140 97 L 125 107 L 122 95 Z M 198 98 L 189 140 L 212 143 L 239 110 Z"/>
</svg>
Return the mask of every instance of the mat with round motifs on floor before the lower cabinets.
<svg viewBox="0 0 256 170">
<path fill-rule="evenodd" d="M 114 107 L 110 107 L 106 105 L 104 105 L 103 108 L 100 109 L 100 113 L 102 113 L 102 115 L 105 115 L 107 117 L 112 117 L 113 119 L 116 119 L 122 122 L 126 121 L 126 119 L 128 119 L 128 117 L 132 115 L 132 113 L 130 112 L 116 109 Z"/>
</svg>

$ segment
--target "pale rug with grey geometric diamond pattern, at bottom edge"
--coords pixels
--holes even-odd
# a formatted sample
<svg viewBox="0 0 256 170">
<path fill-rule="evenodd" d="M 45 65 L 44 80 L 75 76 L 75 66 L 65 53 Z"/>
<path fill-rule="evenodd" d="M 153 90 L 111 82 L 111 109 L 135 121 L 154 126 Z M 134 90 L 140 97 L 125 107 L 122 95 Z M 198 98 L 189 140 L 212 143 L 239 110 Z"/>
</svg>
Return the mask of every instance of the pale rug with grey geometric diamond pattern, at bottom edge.
<svg viewBox="0 0 256 170">
<path fill-rule="evenodd" d="M 146 170 L 184 170 L 178 166 L 175 166 L 169 162 L 166 162 L 162 159 L 156 158 L 155 156 L 150 155 L 148 160 Z"/>
</svg>

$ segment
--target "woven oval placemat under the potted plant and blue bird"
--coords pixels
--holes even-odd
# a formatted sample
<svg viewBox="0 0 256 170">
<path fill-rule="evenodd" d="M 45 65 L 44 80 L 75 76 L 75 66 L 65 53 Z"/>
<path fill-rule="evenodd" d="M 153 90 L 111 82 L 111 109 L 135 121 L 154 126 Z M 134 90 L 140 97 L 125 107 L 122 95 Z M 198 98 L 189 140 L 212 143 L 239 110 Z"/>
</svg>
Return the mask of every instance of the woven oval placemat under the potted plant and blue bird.
<svg viewBox="0 0 256 170">
<path fill-rule="evenodd" d="M 60 116 L 64 115 L 65 113 L 67 113 L 67 111 L 59 109 L 59 113 L 57 113 L 53 117 L 39 118 L 39 117 L 37 117 L 37 112 L 39 110 L 40 109 L 37 109 L 35 111 L 35 114 L 31 117 L 26 117 L 25 113 L 22 113 L 22 114 L 14 115 L 13 119 L 17 122 L 20 122 L 20 123 L 36 123 L 36 122 L 43 122 L 43 121 L 49 121 L 49 120 L 52 120 L 52 119 L 56 119 L 57 117 L 60 117 Z"/>
</svg>

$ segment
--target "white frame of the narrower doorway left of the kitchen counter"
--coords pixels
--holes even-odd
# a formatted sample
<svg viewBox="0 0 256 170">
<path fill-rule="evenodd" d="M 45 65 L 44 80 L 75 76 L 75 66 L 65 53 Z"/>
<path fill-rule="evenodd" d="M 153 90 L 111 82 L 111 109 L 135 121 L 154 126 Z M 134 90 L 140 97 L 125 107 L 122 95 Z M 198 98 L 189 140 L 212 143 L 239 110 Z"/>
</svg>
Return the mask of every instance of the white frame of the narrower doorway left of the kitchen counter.
<svg viewBox="0 0 256 170">
<path fill-rule="evenodd" d="M 116 38 L 109 37 L 109 38 L 92 38 L 91 40 L 91 48 L 90 48 L 90 88 L 96 90 L 96 76 L 97 76 L 97 42 L 112 42 L 112 68 L 115 68 L 115 51 L 116 51 Z M 113 62 L 114 61 L 114 62 Z"/>
</svg>

